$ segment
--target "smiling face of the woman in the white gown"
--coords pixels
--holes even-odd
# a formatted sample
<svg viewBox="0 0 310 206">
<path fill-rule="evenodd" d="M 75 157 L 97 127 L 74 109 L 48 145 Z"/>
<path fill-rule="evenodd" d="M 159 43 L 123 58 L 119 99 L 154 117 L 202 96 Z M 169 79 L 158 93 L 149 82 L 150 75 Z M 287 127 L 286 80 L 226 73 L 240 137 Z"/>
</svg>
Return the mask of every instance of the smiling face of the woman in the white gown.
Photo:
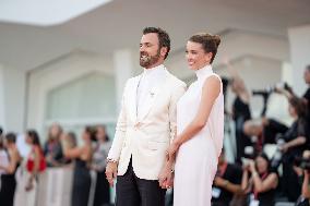
<svg viewBox="0 0 310 206">
<path fill-rule="evenodd" d="M 212 52 L 206 53 L 199 43 L 188 41 L 186 58 L 191 70 L 199 70 L 210 64 Z"/>
</svg>

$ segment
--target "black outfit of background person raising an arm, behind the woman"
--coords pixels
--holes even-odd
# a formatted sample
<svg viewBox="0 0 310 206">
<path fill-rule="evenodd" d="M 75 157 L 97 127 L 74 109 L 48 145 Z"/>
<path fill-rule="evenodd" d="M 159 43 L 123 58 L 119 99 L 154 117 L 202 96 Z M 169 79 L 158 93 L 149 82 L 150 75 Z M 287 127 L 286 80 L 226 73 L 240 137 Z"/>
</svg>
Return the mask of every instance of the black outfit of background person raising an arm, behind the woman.
<svg viewBox="0 0 310 206">
<path fill-rule="evenodd" d="M 243 123 L 251 119 L 251 111 L 249 104 L 245 102 L 240 97 L 236 97 L 233 105 L 235 131 L 236 131 L 236 146 L 237 157 L 236 161 L 241 163 L 241 157 L 245 157 L 245 147 L 250 146 L 251 140 L 243 133 Z"/>
</svg>

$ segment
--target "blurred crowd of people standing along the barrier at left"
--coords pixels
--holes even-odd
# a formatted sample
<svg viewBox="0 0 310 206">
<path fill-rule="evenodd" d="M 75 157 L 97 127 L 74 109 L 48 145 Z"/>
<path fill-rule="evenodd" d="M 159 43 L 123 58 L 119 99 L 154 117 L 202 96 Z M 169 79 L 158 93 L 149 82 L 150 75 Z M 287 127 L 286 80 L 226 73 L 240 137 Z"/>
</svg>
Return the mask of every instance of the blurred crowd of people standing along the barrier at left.
<svg viewBox="0 0 310 206">
<path fill-rule="evenodd" d="M 64 132 L 58 123 L 49 128 L 44 145 L 35 130 L 27 130 L 25 142 L 31 149 L 25 158 L 16 146 L 16 134 L 4 133 L 2 129 L 0 132 L 1 205 L 14 205 L 15 173 L 20 167 L 27 171 L 24 192 L 34 190 L 48 168 L 70 167 L 73 168 L 72 206 L 110 205 L 110 186 L 105 178 L 110 142 L 105 125 L 86 126 L 81 135 L 82 144 L 78 144 L 73 132 Z M 91 171 L 96 173 L 94 194 L 91 193 Z"/>
</svg>

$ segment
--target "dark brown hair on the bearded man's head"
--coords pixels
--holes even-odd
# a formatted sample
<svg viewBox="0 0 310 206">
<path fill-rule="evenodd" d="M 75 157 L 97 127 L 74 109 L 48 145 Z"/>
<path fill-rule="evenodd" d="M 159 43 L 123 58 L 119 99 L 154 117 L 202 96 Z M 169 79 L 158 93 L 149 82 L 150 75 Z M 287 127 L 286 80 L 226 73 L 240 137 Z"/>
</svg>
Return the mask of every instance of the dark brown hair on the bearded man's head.
<svg viewBox="0 0 310 206">
<path fill-rule="evenodd" d="M 165 54 L 165 59 L 168 57 L 168 53 L 170 51 L 170 37 L 166 31 L 159 27 L 145 27 L 143 29 L 143 35 L 150 34 L 150 33 L 155 33 L 158 36 L 158 41 L 159 41 L 159 49 L 163 47 L 167 47 L 167 52 Z"/>
</svg>

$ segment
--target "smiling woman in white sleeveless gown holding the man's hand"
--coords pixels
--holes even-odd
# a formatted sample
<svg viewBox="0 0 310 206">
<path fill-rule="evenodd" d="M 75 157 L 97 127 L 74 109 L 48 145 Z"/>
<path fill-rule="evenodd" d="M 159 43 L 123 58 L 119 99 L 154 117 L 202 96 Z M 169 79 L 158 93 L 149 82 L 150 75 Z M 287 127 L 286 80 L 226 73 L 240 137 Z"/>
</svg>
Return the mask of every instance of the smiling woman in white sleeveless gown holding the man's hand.
<svg viewBox="0 0 310 206">
<path fill-rule="evenodd" d="M 178 134 L 168 149 L 168 165 L 176 159 L 175 206 L 211 205 L 224 137 L 222 81 L 211 66 L 219 43 L 219 36 L 206 33 L 193 35 L 187 43 L 188 64 L 198 80 L 177 105 Z"/>
</svg>

